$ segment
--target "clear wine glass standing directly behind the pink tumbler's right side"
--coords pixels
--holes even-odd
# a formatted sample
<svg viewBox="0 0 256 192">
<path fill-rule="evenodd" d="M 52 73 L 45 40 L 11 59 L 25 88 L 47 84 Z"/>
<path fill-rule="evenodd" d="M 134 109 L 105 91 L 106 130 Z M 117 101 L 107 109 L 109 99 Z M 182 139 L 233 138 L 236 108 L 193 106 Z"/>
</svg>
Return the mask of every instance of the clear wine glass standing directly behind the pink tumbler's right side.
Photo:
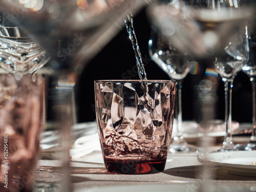
<svg viewBox="0 0 256 192">
<path fill-rule="evenodd" d="M 182 105 L 181 91 L 182 82 L 190 71 L 190 62 L 187 56 L 179 53 L 172 44 L 166 41 L 157 28 L 152 27 L 151 38 L 148 41 L 148 51 L 151 59 L 171 78 L 177 81 L 176 97 L 176 118 L 177 118 L 177 136 L 174 137 L 170 144 L 169 151 L 176 152 L 191 152 L 184 139 L 182 127 Z"/>
</svg>

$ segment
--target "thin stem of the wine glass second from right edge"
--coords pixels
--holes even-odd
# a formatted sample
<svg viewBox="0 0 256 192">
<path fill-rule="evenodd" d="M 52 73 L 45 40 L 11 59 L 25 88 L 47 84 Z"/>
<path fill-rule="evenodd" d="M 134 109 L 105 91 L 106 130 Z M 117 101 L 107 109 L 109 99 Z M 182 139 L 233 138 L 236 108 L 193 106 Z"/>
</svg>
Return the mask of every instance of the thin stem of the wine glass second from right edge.
<svg viewBox="0 0 256 192">
<path fill-rule="evenodd" d="M 226 126 L 226 135 L 225 135 L 225 143 L 231 144 L 232 143 L 232 127 L 231 127 L 231 101 L 232 101 L 232 87 L 233 87 L 233 80 L 226 80 L 224 81 L 225 87 L 225 126 Z"/>
</svg>

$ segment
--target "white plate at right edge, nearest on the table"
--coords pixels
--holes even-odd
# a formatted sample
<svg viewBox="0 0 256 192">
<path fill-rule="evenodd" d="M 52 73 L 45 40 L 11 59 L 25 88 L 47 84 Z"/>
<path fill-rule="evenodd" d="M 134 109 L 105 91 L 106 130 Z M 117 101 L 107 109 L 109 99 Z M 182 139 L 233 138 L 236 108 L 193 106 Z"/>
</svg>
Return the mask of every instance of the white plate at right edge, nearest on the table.
<svg viewBox="0 0 256 192">
<path fill-rule="evenodd" d="M 198 160 L 216 163 L 232 175 L 256 177 L 256 151 L 210 153 L 200 155 Z"/>
</svg>

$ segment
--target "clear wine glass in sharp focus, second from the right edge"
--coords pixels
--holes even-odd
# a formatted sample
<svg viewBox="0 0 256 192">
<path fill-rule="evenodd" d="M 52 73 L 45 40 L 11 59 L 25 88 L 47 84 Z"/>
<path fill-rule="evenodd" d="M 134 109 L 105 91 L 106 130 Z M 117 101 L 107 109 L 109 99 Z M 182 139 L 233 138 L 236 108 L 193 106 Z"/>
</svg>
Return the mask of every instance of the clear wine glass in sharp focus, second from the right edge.
<svg viewBox="0 0 256 192">
<path fill-rule="evenodd" d="M 220 57 L 216 57 L 216 69 L 224 82 L 225 90 L 225 126 L 226 134 L 223 145 L 220 149 L 223 151 L 235 150 L 236 147 L 232 142 L 232 127 L 231 127 L 231 100 L 232 87 L 234 77 L 242 70 L 243 65 L 249 59 L 249 41 L 247 26 L 244 30 L 240 30 L 240 34 L 229 42 L 223 50 Z"/>
</svg>

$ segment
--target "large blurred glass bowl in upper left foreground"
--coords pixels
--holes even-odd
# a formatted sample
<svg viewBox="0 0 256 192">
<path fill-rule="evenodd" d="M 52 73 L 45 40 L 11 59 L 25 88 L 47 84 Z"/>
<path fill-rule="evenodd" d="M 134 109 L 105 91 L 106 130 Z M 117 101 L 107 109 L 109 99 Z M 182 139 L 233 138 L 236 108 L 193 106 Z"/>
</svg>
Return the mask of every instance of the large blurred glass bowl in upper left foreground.
<svg viewBox="0 0 256 192">
<path fill-rule="evenodd" d="M 148 2 L 2 0 L 0 9 L 34 35 L 62 68 L 69 69 L 90 61 L 121 30 L 123 18 Z"/>
</svg>

